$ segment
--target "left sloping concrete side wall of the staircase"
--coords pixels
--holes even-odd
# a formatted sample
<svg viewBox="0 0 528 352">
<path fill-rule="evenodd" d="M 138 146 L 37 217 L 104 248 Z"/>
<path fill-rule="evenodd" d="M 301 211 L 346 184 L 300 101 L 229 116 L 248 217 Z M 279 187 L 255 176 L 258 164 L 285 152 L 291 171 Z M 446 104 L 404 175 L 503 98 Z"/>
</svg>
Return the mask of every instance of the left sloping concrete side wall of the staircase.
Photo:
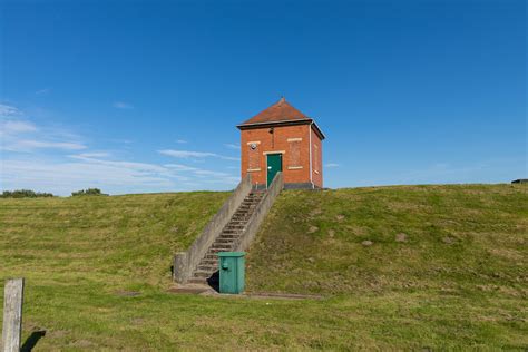
<svg viewBox="0 0 528 352">
<path fill-rule="evenodd" d="M 236 189 L 224 203 L 222 208 L 207 223 L 202 234 L 193 242 L 185 252 L 178 252 L 174 256 L 173 278 L 177 283 L 185 284 L 193 275 L 211 245 L 219 236 L 225 225 L 231 221 L 244 198 L 252 192 L 251 174 L 241 180 Z"/>
</svg>

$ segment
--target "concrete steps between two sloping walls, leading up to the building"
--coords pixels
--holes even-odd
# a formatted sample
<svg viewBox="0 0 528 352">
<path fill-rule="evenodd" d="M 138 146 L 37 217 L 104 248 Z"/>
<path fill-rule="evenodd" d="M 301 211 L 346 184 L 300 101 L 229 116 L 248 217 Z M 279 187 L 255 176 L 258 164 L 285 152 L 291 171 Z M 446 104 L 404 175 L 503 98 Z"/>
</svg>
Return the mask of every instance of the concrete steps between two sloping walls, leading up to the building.
<svg viewBox="0 0 528 352">
<path fill-rule="evenodd" d="M 188 283 L 193 284 L 214 284 L 217 281 L 216 272 L 218 271 L 218 252 L 231 252 L 236 248 L 238 238 L 241 237 L 245 226 L 256 206 L 261 202 L 265 192 L 252 190 L 233 214 L 231 221 L 222 229 L 211 245 L 198 266 L 193 272 Z"/>
</svg>

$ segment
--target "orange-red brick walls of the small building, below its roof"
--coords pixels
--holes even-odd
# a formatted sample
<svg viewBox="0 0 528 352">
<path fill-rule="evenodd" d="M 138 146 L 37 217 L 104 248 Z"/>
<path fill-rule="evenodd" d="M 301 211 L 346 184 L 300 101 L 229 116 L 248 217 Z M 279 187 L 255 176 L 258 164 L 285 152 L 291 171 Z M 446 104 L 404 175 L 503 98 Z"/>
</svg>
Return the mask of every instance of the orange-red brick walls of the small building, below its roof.
<svg viewBox="0 0 528 352">
<path fill-rule="evenodd" d="M 241 131 L 241 173 L 245 177 L 252 174 L 253 184 L 265 185 L 267 165 L 265 153 L 276 151 L 283 155 L 284 183 L 310 183 L 310 125 L 245 129 Z M 251 149 L 251 143 L 256 144 L 256 149 Z M 321 150 L 321 140 L 312 131 L 312 145 L 317 145 Z M 312 148 L 314 148 L 312 146 Z M 312 150 L 313 154 L 313 150 Z M 322 159 L 319 154 L 319 173 L 314 184 L 322 186 Z"/>
</svg>

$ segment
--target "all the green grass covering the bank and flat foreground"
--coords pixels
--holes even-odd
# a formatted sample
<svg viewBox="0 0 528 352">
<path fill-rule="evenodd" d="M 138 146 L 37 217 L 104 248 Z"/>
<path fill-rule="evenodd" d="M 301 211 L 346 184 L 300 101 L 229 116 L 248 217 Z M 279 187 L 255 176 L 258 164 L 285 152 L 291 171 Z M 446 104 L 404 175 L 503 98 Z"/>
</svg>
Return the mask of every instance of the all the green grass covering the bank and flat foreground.
<svg viewBox="0 0 528 352">
<path fill-rule="evenodd" d="M 227 196 L 0 199 L 0 278 L 27 277 L 25 338 L 43 329 L 37 350 L 68 351 L 528 348 L 528 187 L 283 192 L 247 290 L 323 300 L 167 293 L 173 253 Z"/>
</svg>

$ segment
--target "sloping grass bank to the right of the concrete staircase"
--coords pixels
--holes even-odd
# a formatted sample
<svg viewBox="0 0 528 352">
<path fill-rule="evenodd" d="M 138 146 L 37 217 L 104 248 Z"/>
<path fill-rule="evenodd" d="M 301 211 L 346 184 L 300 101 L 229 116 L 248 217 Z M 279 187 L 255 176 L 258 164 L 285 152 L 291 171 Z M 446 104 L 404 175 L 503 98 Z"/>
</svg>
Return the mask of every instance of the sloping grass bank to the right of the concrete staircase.
<svg viewBox="0 0 528 352">
<path fill-rule="evenodd" d="M 250 287 L 527 294 L 528 187 L 285 192 L 250 251 Z"/>
</svg>

